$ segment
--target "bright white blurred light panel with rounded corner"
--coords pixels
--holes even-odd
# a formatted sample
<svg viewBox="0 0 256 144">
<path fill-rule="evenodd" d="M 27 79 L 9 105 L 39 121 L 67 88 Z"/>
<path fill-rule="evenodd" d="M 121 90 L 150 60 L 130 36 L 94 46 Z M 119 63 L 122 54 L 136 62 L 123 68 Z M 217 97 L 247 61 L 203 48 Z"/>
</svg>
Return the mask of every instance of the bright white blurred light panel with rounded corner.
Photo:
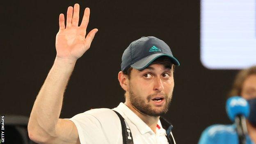
<svg viewBox="0 0 256 144">
<path fill-rule="evenodd" d="M 256 0 L 201 0 L 200 59 L 208 69 L 256 64 Z"/>
</svg>

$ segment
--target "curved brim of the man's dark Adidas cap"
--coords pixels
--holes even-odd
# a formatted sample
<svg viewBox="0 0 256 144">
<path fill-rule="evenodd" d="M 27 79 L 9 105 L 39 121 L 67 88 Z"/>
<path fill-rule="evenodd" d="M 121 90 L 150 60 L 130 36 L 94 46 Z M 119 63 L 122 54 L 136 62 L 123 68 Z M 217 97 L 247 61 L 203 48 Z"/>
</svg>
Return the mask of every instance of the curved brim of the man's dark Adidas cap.
<svg viewBox="0 0 256 144">
<path fill-rule="evenodd" d="M 171 62 L 173 64 L 175 64 L 176 66 L 180 65 L 178 60 L 175 57 L 171 56 L 171 55 L 167 55 L 167 54 L 164 54 L 164 53 L 155 53 L 153 55 L 149 55 L 147 57 L 144 57 L 143 59 L 140 59 L 139 61 L 132 64 L 131 67 L 134 68 L 134 69 L 137 69 L 137 70 L 145 69 L 147 66 L 149 66 L 149 64 L 151 64 L 151 62 L 153 62 L 158 57 L 162 57 L 162 56 L 169 57 L 171 59 Z"/>
</svg>

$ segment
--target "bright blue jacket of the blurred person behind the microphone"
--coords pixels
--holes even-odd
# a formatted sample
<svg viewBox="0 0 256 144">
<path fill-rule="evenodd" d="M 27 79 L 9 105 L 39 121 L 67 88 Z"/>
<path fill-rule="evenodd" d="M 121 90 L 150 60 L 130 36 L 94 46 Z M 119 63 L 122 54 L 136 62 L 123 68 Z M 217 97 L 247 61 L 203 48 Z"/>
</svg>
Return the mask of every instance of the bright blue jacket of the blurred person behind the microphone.
<svg viewBox="0 0 256 144">
<path fill-rule="evenodd" d="M 239 144 L 235 128 L 235 124 L 209 126 L 203 131 L 198 144 Z M 248 135 L 246 144 L 254 144 Z"/>
</svg>

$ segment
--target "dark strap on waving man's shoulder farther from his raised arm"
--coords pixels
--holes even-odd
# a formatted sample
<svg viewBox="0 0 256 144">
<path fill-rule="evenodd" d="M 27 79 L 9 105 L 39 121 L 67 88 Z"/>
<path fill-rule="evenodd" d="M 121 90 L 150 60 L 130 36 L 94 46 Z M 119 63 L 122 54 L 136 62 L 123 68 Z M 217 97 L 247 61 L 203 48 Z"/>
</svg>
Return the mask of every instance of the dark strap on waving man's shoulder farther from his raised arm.
<svg viewBox="0 0 256 144">
<path fill-rule="evenodd" d="M 173 129 L 173 126 L 171 125 L 171 123 L 169 121 L 167 121 L 167 119 L 160 117 L 160 122 L 162 124 L 162 127 L 165 129 L 166 131 L 166 138 L 169 142 L 169 144 L 176 144 L 174 137 L 171 133 L 171 130 Z"/>
</svg>

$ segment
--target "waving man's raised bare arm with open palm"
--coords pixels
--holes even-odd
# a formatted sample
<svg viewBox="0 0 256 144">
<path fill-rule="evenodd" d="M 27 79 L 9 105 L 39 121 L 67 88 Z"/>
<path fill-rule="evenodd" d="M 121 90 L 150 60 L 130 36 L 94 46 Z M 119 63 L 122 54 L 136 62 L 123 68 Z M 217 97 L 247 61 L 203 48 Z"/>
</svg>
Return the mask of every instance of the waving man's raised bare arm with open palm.
<svg viewBox="0 0 256 144">
<path fill-rule="evenodd" d="M 52 69 L 37 95 L 30 114 L 28 133 L 37 143 L 79 144 L 78 131 L 72 121 L 59 119 L 64 90 L 75 66 L 76 60 L 87 51 L 97 29 L 86 35 L 89 22 L 89 8 L 85 9 L 81 25 L 79 5 L 67 10 L 66 27 L 64 14 L 59 15 L 59 32 L 56 36 L 57 55 Z"/>
</svg>

